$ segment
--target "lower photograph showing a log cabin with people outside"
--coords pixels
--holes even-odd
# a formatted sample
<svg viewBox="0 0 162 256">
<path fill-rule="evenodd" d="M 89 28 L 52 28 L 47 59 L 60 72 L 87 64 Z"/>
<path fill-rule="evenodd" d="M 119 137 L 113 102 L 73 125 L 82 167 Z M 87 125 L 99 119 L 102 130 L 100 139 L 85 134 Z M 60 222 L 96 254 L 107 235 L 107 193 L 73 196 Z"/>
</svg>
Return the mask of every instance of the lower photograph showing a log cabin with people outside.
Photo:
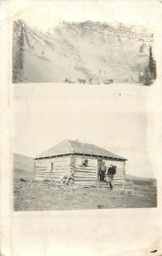
<svg viewBox="0 0 162 256">
<path fill-rule="evenodd" d="M 157 207 L 147 114 L 20 104 L 14 211 Z"/>
</svg>

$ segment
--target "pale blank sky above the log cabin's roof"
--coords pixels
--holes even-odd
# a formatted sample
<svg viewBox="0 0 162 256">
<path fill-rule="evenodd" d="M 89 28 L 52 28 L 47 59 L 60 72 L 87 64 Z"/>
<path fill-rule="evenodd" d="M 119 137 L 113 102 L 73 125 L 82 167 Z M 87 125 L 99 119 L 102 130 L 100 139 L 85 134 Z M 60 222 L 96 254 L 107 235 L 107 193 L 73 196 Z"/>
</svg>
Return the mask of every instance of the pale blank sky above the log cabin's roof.
<svg viewBox="0 0 162 256">
<path fill-rule="evenodd" d="M 154 177 L 147 113 L 116 111 L 113 97 L 92 99 L 88 94 L 84 99 L 70 94 L 20 97 L 13 104 L 14 153 L 35 157 L 64 139 L 77 139 L 125 157 L 126 171 L 132 175 Z"/>
</svg>

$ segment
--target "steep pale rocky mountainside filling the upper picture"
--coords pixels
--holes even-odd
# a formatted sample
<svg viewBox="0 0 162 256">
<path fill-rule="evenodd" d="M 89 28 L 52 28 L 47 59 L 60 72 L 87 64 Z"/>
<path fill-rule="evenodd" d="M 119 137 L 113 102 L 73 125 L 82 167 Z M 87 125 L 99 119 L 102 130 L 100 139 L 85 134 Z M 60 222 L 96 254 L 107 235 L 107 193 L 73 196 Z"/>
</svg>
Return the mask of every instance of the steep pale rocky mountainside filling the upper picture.
<svg viewBox="0 0 162 256">
<path fill-rule="evenodd" d="M 13 82 L 139 83 L 148 68 L 153 34 L 142 26 L 87 20 L 60 22 L 48 32 L 15 20 Z"/>
</svg>

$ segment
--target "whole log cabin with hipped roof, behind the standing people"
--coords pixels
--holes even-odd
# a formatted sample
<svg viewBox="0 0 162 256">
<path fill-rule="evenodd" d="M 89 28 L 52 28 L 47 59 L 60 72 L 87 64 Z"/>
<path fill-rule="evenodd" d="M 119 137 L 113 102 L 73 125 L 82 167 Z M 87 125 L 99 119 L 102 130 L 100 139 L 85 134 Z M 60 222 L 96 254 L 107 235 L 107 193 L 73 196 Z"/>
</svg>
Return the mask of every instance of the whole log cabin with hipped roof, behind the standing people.
<svg viewBox="0 0 162 256">
<path fill-rule="evenodd" d="M 73 175 L 75 184 L 99 183 L 99 170 L 102 161 L 108 170 L 116 166 L 115 183 L 125 181 L 126 159 L 104 148 L 79 141 L 64 140 L 47 149 L 35 158 L 35 178 L 60 180 Z"/>
</svg>

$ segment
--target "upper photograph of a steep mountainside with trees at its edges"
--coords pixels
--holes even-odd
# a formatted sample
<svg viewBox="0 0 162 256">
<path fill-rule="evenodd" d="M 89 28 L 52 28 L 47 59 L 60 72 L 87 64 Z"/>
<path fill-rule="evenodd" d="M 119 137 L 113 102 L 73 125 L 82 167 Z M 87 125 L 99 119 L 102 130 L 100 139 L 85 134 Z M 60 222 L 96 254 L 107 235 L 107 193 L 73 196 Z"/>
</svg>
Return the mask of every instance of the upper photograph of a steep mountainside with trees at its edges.
<svg viewBox="0 0 162 256">
<path fill-rule="evenodd" d="M 54 6 L 54 4 L 53 4 Z M 81 13 L 33 6 L 13 20 L 13 83 L 151 85 L 156 79 L 154 31 Z M 60 12 L 60 13 L 59 13 Z M 83 16 L 83 17 L 82 17 Z M 102 19 L 103 18 L 103 19 Z M 46 19 L 46 22 L 44 21 Z M 100 20 L 98 20 L 100 19 Z"/>
</svg>

